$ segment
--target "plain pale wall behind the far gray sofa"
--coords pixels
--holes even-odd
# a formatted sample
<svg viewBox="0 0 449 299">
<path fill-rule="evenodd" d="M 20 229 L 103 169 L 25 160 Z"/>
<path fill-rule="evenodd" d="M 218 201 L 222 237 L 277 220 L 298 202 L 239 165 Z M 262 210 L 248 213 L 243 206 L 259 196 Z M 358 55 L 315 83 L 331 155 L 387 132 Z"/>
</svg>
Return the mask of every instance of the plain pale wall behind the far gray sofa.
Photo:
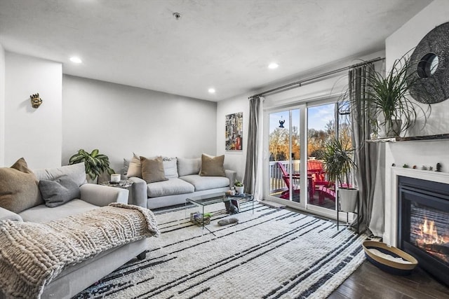
<svg viewBox="0 0 449 299">
<path fill-rule="evenodd" d="M 116 172 L 133 152 L 216 154 L 215 102 L 67 75 L 62 93 L 62 165 L 80 148 L 98 148 Z"/>
</svg>

